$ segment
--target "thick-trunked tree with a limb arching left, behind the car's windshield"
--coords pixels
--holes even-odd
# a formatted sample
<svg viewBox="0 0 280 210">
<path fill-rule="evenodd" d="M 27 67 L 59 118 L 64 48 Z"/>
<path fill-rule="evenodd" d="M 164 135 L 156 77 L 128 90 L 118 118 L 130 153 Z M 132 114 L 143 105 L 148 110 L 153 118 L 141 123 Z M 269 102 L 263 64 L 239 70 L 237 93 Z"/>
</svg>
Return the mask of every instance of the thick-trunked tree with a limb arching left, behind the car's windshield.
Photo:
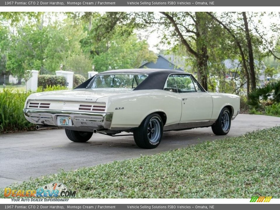
<svg viewBox="0 0 280 210">
<path fill-rule="evenodd" d="M 197 77 L 205 90 L 207 86 L 207 36 L 209 31 L 209 18 L 205 13 L 195 12 L 160 12 L 162 16 L 156 18 L 153 14 L 144 17 L 147 24 L 159 24 L 165 28 L 165 41 L 170 44 L 171 40 L 179 41 L 186 51 L 195 57 Z M 171 30 L 170 27 L 173 27 Z"/>
</svg>

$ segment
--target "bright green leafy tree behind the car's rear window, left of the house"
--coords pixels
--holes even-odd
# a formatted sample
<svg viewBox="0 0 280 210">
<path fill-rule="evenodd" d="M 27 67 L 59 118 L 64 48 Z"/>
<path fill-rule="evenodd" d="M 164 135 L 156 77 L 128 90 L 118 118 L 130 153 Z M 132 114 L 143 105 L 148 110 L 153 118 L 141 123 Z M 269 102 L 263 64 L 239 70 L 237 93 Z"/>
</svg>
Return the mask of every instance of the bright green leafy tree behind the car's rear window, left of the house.
<svg viewBox="0 0 280 210">
<path fill-rule="evenodd" d="M 87 36 L 81 40 L 83 52 L 92 59 L 96 71 L 138 68 L 143 61 L 155 62 L 157 56 L 145 40 L 133 32 L 126 13 L 85 13 L 81 17 Z M 129 19 L 130 20 L 130 19 Z"/>
</svg>

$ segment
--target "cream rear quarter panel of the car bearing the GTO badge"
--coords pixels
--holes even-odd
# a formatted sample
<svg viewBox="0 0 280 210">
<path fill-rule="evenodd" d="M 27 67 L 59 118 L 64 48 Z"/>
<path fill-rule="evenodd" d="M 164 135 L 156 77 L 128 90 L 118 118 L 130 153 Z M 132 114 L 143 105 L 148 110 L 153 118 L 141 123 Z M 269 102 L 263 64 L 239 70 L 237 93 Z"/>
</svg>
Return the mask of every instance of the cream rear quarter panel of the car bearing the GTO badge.
<svg viewBox="0 0 280 210">
<path fill-rule="evenodd" d="M 181 118 L 180 96 L 164 90 L 134 90 L 102 97 L 97 102 L 106 102 L 106 112 L 113 112 L 111 128 L 138 127 L 146 116 L 154 112 L 166 114 L 165 125 L 178 123 Z"/>
</svg>

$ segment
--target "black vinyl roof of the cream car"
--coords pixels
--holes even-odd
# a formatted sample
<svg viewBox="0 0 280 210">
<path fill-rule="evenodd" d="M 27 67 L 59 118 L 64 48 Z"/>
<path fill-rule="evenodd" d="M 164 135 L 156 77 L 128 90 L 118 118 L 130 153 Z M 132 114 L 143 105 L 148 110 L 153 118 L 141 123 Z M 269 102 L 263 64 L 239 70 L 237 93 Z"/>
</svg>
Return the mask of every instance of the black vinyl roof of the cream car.
<svg viewBox="0 0 280 210">
<path fill-rule="evenodd" d="M 113 73 L 132 73 L 132 74 L 147 74 L 148 77 L 143 80 L 134 90 L 163 90 L 164 84 L 170 74 L 190 74 L 184 71 L 178 71 L 178 70 L 169 70 L 169 69 L 118 69 L 118 70 L 110 70 L 110 71 L 103 71 L 97 75 L 102 74 L 113 74 Z M 92 78 L 94 78 L 93 76 Z M 92 81 L 92 78 L 88 79 L 78 87 L 78 88 L 86 88 L 90 81 Z"/>
</svg>

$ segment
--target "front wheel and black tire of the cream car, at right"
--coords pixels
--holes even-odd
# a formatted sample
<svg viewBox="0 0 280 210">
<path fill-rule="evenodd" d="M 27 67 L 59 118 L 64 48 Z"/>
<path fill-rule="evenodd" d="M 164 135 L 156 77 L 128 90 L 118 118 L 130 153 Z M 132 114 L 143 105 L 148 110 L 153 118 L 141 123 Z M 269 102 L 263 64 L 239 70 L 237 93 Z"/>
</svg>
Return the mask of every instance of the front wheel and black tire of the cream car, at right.
<svg viewBox="0 0 280 210">
<path fill-rule="evenodd" d="M 230 131 L 231 114 L 228 108 L 223 108 L 216 123 L 212 125 L 212 131 L 216 135 L 226 135 Z"/>
</svg>

